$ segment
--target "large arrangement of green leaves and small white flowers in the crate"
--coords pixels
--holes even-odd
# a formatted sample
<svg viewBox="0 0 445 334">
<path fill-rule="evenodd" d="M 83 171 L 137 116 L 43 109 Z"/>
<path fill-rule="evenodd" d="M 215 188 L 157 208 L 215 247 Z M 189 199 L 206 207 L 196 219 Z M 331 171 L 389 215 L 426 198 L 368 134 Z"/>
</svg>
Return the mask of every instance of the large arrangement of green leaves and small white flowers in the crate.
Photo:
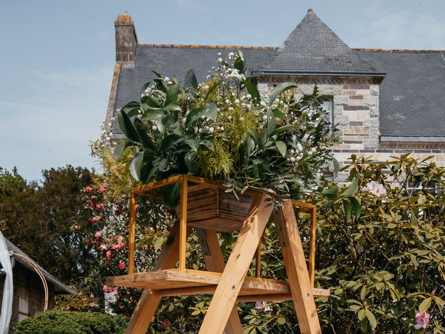
<svg viewBox="0 0 445 334">
<path fill-rule="evenodd" d="M 325 97 L 315 87 L 296 98 L 293 83 L 260 92 L 241 51 L 218 56 L 207 82 L 197 84 L 193 70 L 183 86 L 155 72 L 140 102 L 118 111 L 127 140 L 115 152 L 132 150 L 131 175 L 146 183 L 184 173 L 224 181 L 229 191 L 260 186 L 293 198 L 320 186 L 334 141 Z"/>
</svg>

